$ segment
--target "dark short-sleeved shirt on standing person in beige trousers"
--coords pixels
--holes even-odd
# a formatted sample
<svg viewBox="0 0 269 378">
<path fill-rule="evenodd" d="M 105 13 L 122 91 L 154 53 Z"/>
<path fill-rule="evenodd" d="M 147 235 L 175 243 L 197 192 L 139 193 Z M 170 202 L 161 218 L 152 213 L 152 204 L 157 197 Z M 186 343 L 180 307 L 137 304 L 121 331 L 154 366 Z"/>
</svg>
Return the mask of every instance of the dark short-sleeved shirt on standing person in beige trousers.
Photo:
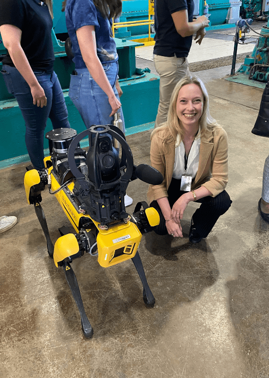
<svg viewBox="0 0 269 378">
<path fill-rule="evenodd" d="M 155 45 L 153 54 L 177 58 L 189 55 L 193 36 L 181 37 L 175 28 L 172 13 L 187 9 L 189 22 L 193 21 L 193 0 L 155 0 Z"/>
</svg>

